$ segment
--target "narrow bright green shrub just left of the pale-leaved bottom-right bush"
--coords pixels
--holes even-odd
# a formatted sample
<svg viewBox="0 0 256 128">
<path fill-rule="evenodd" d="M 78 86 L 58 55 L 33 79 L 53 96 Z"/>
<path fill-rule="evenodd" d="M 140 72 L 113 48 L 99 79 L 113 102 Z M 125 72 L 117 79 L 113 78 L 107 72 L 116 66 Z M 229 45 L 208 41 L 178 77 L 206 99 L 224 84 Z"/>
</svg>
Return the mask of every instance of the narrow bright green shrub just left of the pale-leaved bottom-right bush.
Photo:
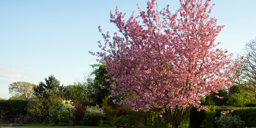
<svg viewBox="0 0 256 128">
<path fill-rule="evenodd" d="M 200 127 L 202 128 L 214 128 L 212 121 L 214 120 L 214 116 L 217 112 L 215 111 L 215 107 L 210 110 L 208 108 L 204 111 L 204 114 L 206 114 L 206 118 L 203 120 L 202 125 Z"/>
</svg>

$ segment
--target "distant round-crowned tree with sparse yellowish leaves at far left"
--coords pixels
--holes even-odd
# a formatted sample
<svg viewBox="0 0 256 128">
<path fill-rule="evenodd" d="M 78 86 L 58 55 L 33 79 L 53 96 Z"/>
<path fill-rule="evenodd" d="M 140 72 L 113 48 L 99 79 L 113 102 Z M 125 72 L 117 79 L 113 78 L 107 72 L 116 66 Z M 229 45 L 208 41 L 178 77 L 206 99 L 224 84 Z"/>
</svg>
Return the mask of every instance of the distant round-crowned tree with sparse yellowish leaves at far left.
<svg viewBox="0 0 256 128">
<path fill-rule="evenodd" d="M 22 99 L 28 99 L 33 96 L 33 88 L 36 84 L 31 84 L 30 82 L 13 82 L 8 87 L 9 93 L 19 96 Z"/>
</svg>

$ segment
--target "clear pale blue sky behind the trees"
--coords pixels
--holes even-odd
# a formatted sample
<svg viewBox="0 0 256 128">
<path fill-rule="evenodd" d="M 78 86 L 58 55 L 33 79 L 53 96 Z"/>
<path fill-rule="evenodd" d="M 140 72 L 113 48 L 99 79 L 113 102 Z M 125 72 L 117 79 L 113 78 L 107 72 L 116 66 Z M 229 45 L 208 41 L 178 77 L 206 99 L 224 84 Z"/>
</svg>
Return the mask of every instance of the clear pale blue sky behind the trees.
<svg viewBox="0 0 256 128">
<path fill-rule="evenodd" d="M 98 32 L 118 29 L 110 23 L 110 10 L 138 14 L 136 4 L 146 10 L 148 0 L 1 0 L 0 1 L 0 97 L 10 98 L 8 85 L 24 81 L 34 84 L 53 74 L 61 84 L 73 84 L 82 72 L 97 64 Z M 180 7 L 179 0 L 157 0 L 159 10 Z M 256 0 L 212 0 L 212 17 L 225 25 L 216 38 L 218 48 L 240 52 L 256 37 Z"/>
</svg>

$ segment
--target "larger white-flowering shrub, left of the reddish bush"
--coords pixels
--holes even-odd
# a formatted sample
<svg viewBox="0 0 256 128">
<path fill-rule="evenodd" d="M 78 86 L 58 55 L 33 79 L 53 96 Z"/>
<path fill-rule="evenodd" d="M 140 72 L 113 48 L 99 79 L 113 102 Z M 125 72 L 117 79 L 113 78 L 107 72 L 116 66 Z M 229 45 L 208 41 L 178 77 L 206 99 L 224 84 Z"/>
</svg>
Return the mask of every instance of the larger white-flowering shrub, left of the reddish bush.
<svg viewBox="0 0 256 128">
<path fill-rule="evenodd" d="M 71 104 L 73 104 L 73 102 L 70 100 L 63 100 L 55 106 L 50 106 L 48 116 L 50 122 L 58 124 L 58 122 L 65 123 L 66 121 L 73 119 L 76 108 Z"/>
</svg>

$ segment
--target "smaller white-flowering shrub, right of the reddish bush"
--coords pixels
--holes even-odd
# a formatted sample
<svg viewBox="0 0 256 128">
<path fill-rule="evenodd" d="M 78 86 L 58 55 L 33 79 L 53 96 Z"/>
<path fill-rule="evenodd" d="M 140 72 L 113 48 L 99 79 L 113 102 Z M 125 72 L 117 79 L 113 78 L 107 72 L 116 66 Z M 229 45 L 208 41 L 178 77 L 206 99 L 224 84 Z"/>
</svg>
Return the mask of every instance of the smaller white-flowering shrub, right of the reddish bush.
<svg viewBox="0 0 256 128">
<path fill-rule="evenodd" d="M 100 125 L 102 118 L 106 115 L 104 110 L 100 108 L 97 104 L 96 106 L 86 107 L 84 111 L 83 121 L 85 125 L 96 126 Z"/>
</svg>

